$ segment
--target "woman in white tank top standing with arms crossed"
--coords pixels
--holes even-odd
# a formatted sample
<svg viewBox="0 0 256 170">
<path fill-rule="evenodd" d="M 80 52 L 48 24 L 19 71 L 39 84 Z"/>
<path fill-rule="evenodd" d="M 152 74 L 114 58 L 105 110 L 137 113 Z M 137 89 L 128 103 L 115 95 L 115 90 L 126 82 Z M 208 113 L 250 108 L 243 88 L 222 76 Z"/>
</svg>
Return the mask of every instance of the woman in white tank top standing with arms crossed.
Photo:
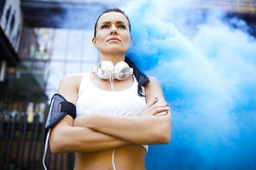
<svg viewBox="0 0 256 170">
<path fill-rule="evenodd" d="M 114 66 L 127 61 L 136 78 L 100 79 L 88 72 L 61 79 L 58 93 L 76 105 L 77 117 L 67 115 L 54 126 L 51 151 L 74 152 L 75 170 L 145 169 L 145 145 L 170 141 L 170 108 L 162 88 L 125 58 L 131 26 L 120 9 L 106 9 L 99 16 L 92 42 L 100 61 Z"/>
</svg>

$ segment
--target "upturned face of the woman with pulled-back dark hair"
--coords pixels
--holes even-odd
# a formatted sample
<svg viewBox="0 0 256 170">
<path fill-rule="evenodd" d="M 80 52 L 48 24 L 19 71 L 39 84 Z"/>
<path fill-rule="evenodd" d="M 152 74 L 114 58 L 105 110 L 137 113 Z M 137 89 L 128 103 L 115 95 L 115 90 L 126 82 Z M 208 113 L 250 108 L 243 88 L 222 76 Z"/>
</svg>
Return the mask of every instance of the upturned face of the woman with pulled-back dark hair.
<svg viewBox="0 0 256 170">
<path fill-rule="evenodd" d="M 125 54 L 131 46 L 129 22 L 118 12 L 100 16 L 92 41 L 101 54 Z"/>
</svg>

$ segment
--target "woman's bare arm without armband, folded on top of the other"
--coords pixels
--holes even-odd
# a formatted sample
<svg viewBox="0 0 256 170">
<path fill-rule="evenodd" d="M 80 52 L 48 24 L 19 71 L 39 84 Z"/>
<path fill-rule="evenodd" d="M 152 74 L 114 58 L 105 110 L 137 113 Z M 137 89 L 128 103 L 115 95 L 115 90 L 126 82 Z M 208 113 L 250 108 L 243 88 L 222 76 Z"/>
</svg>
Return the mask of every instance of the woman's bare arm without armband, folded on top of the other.
<svg viewBox="0 0 256 170">
<path fill-rule="evenodd" d="M 111 116 L 89 113 L 79 124 L 89 129 L 138 144 L 166 144 L 170 141 L 170 109 L 157 79 L 150 78 L 145 88 L 147 106 L 142 116 Z M 157 98 L 157 99 L 155 99 Z"/>
</svg>

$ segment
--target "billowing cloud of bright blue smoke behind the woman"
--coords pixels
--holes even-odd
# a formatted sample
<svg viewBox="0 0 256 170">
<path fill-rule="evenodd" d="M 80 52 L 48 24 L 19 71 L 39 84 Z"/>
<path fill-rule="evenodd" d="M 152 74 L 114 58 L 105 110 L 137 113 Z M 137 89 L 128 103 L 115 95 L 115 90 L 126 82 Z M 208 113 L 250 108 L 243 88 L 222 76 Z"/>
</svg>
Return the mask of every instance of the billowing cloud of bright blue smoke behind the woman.
<svg viewBox="0 0 256 170">
<path fill-rule="evenodd" d="M 194 14 L 204 22 L 190 29 L 191 13 L 176 3 L 122 8 L 131 20 L 128 56 L 159 79 L 172 112 L 170 144 L 150 146 L 146 167 L 255 169 L 256 41 L 246 22 L 234 18 L 231 28 L 222 13 Z"/>
</svg>

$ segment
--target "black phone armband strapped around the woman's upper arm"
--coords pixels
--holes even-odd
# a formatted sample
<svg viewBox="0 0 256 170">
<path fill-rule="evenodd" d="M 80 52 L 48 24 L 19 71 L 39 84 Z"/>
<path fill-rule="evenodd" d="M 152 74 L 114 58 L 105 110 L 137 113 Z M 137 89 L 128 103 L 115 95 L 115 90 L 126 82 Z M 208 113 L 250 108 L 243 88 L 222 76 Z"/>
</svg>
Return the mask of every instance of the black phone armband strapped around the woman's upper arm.
<svg viewBox="0 0 256 170">
<path fill-rule="evenodd" d="M 61 94 L 55 93 L 50 103 L 48 118 L 45 124 L 45 134 L 48 133 L 48 129 L 54 127 L 66 115 L 72 116 L 73 119 L 76 117 L 75 105 L 67 102 L 66 98 L 62 97 Z"/>
</svg>

